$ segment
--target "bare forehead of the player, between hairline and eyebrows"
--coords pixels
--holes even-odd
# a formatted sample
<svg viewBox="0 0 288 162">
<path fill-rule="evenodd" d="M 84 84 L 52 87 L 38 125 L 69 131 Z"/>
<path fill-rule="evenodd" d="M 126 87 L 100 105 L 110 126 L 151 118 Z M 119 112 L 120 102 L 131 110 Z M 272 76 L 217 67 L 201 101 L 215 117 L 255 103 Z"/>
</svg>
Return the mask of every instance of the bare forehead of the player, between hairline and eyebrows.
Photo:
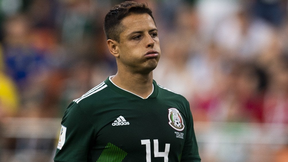
<svg viewBox="0 0 288 162">
<path fill-rule="evenodd" d="M 125 27 L 124 33 L 133 31 L 144 31 L 156 28 L 156 25 L 149 14 L 130 14 L 123 18 L 122 25 Z"/>
</svg>

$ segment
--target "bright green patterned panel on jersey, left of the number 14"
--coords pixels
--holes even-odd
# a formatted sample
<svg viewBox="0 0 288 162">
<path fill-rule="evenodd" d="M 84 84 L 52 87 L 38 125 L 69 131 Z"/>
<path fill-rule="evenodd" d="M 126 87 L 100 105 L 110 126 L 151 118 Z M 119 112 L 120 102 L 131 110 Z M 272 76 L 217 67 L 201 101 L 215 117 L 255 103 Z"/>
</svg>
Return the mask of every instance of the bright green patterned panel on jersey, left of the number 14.
<svg viewBox="0 0 288 162">
<path fill-rule="evenodd" d="M 127 153 L 124 150 L 109 142 L 107 143 L 97 162 L 121 162 L 126 155 Z"/>
</svg>

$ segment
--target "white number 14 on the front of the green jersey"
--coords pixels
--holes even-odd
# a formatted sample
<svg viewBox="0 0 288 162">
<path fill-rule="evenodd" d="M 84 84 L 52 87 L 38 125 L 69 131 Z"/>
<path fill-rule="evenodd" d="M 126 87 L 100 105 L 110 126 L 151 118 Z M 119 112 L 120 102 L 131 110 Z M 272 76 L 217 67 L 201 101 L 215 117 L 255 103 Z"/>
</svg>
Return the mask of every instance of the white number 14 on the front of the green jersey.
<svg viewBox="0 0 288 162">
<path fill-rule="evenodd" d="M 168 162 L 168 154 L 170 149 L 170 144 L 165 144 L 165 151 L 158 151 L 158 140 L 153 140 L 154 142 L 154 157 L 164 157 L 164 162 Z M 151 145 L 150 140 L 141 140 L 141 144 L 146 145 L 146 161 L 151 162 Z"/>
</svg>

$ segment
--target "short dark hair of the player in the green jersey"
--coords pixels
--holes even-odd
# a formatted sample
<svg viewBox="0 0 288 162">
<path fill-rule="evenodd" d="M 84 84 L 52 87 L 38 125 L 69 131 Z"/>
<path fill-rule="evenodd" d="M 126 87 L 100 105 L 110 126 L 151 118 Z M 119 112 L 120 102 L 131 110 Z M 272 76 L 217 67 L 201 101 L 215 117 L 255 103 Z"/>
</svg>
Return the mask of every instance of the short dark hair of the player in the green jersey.
<svg viewBox="0 0 288 162">
<path fill-rule="evenodd" d="M 137 3 L 133 1 L 126 1 L 119 5 L 115 5 L 105 16 L 104 32 L 106 39 L 113 39 L 120 42 L 120 33 L 124 30 L 121 20 L 128 16 L 130 13 L 136 14 L 149 14 L 153 19 L 152 11 L 147 4 Z"/>
</svg>

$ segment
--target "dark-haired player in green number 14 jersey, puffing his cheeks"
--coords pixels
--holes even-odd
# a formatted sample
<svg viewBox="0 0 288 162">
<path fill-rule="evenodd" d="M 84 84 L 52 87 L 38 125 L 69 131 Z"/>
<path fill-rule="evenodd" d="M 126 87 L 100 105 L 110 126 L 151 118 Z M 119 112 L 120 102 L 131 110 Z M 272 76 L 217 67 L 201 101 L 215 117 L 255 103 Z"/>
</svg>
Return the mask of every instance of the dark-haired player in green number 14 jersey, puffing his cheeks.
<svg viewBox="0 0 288 162">
<path fill-rule="evenodd" d="M 124 2 L 105 17 L 118 71 L 62 119 L 55 161 L 200 161 L 188 101 L 158 85 L 158 30 L 145 4 Z"/>
</svg>

